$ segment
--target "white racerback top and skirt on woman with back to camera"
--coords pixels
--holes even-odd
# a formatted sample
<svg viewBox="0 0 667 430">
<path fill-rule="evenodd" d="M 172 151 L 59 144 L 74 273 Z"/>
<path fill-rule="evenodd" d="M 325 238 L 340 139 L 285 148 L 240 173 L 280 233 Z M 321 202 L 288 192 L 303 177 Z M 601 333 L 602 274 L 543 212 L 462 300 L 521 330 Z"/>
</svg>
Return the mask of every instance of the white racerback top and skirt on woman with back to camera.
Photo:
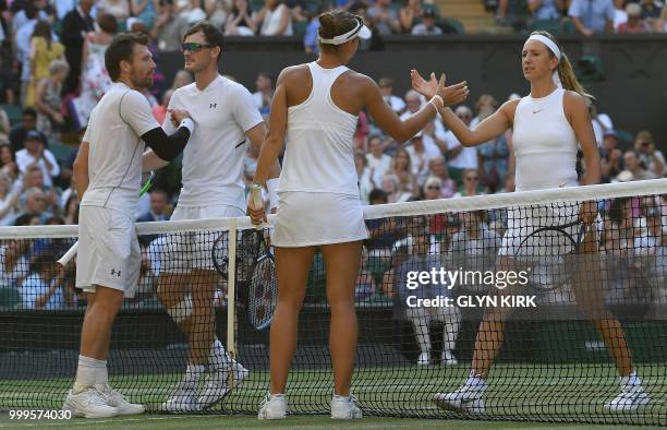
<svg viewBox="0 0 667 430">
<path fill-rule="evenodd" d="M 331 99 L 331 86 L 349 69 L 308 63 L 313 89 L 288 109 L 287 148 L 280 175 L 276 247 L 343 243 L 368 238 L 354 168 L 357 118 Z"/>
</svg>

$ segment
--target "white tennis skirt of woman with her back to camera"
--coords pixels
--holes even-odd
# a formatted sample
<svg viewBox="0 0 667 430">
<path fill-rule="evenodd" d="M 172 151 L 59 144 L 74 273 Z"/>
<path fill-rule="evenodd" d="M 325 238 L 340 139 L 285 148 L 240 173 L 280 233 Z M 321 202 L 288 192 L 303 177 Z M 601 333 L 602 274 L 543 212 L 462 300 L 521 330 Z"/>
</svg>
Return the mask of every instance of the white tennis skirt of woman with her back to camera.
<svg viewBox="0 0 667 430">
<path fill-rule="evenodd" d="M 312 247 L 367 238 L 359 196 L 301 191 L 280 193 L 274 246 Z"/>
</svg>

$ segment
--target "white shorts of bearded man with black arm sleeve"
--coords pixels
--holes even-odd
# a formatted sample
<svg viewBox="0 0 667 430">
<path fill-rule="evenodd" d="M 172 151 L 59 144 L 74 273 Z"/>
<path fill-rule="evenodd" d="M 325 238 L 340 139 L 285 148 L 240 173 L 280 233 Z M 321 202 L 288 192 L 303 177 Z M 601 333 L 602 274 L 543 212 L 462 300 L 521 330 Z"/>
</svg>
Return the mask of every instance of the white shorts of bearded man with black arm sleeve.
<svg viewBox="0 0 667 430">
<path fill-rule="evenodd" d="M 136 292 L 142 252 L 134 219 L 121 211 L 81 206 L 76 287 L 93 292 L 97 285 L 119 289 L 124 297 Z"/>
</svg>

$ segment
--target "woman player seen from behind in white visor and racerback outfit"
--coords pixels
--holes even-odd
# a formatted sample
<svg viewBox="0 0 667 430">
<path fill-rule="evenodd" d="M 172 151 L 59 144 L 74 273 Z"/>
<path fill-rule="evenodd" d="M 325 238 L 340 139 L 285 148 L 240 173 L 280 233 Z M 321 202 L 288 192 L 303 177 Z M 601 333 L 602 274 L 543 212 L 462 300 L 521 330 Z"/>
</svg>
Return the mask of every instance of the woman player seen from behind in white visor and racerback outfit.
<svg viewBox="0 0 667 430">
<path fill-rule="evenodd" d="M 271 103 L 269 130 L 254 178 L 253 192 L 262 189 L 270 166 L 287 139 L 275 225 L 278 306 L 270 333 L 270 391 L 259 419 L 280 419 L 287 413 L 284 389 L 294 349 L 299 312 L 308 268 L 322 247 L 331 308 L 331 361 L 335 391 L 331 418 L 361 418 L 350 396 L 356 350 L 354 284 L 360 268 L 362 240 L 368 237 L 356 186 L 354 131 L 359 112 L 367 108 L 375 122 L 398 142 L 420 131 L 437 108 L 462 101 L 465 83 L 437 85 L 430 101 L 401 121 L 384 101 L 375 82 L 348 69 L 359 39 L 371 35 L 362 20 L 345 11 L 319 16 L 319 59 L 284 69 Z M 248 200 L 254 223 L 264 208 Z"/>
</svg>

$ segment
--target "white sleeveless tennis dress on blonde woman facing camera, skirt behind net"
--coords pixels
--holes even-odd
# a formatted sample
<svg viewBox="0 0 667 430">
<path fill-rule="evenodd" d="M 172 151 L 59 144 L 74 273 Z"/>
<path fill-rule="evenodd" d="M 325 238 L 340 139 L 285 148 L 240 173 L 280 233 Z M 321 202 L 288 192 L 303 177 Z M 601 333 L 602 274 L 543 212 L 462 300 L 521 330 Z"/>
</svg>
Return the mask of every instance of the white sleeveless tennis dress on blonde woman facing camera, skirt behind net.
<svg viewBox="0 0 667 430">
<path fill-rule="evenodd" d="M 556 88 L 546 97 L 523 97 L 514 112 L 512 143 L 517 158 L 517 191 L 575 187 L 579 143 L 563 108 L 565 89 Z M 536 228 L 558 226 L 579 217 L 578 203 L 555 203 L 508 210 L 508 229 L 502 237 L 500 255 L 517 255 L 521 241 Z M 567 232 L 573 237 L 578 227 Z M 563 239 L 560 237 L 560 239 Z M 527 247 L 526 247 L 527 246 Z M 543 254 L 570 252 L 571 244 L 525 243 L 522 251 Z M 548 249 L 548 250 L 547 250 Z"/>
</svg>

